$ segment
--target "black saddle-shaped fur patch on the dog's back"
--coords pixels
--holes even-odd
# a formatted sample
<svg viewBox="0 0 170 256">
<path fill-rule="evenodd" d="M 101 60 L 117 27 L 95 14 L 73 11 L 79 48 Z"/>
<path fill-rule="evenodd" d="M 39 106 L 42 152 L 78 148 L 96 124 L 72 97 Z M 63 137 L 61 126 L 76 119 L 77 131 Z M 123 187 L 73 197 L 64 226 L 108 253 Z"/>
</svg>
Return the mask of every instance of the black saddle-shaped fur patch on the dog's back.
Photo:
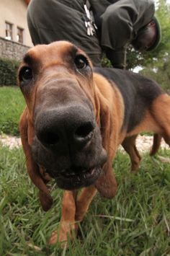
<svg viewBox="0 0 170 256">
<path fill-rule="evenodd" d="M 112 81 L 120 90 L 125 102 L 125 118 L 122 129 L 130 132 L 137 126 L 153 100 L 163 93 L 155 81 L 140 74 L 121 69 L 94 68 L 94 72 L 102 74 L 111 84 Z"/>
</svg>

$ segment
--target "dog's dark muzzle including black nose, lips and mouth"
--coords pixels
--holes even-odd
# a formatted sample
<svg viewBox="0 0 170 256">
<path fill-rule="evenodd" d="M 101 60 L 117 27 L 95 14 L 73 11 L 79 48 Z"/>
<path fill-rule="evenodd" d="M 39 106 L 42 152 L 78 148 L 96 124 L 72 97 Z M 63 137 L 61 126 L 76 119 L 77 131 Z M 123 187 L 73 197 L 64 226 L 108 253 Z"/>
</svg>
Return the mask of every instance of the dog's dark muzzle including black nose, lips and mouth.
<svg viewBox="0 0 170 256">
<path fill-rule="evenodd" d="M 38 113 L 32 154 L 66 190 L 93 184 L 107 160 L 94 114 L 83 105 Z"/>
</svg>

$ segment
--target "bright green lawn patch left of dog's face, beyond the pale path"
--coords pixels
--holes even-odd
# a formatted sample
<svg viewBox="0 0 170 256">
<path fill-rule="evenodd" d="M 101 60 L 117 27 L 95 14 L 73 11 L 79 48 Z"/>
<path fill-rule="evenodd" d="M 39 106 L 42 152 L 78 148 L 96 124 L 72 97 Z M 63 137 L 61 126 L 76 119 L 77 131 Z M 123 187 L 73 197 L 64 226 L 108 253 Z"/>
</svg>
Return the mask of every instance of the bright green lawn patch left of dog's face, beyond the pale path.
<svg viewBox="0 0 170 256">
<path fill-rule="evenodd" d="M 18 87 L 0 87 L 0 132 L 19 135 L 19 117 L 24 97 Z"/>
</svg>

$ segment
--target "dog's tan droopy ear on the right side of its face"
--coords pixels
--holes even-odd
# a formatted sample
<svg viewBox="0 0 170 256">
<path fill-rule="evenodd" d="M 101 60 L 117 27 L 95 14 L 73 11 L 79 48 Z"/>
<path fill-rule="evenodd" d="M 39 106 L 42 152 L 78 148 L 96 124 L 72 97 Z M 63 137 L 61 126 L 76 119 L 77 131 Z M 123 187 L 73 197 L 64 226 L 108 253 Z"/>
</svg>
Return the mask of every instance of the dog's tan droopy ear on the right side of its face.
<svg viewBox="0 0 170 256">
<path fill-rule="evenodd" d="M 99 81 L 97 82 L 99 83 Z M 96 98 L 97 123 L 101 131 L 102 146 L 107 151 L 107 162 L 102 168 L 102 175 L 100 175 L 97 182 L 95 182 L 95 187 L 104 198 L 113 198 L 117 190 L 117 182 L 112 170 L 112 159 L 115 156 L 117 146 L 117 138 L 115 137 L 115 133 L 113 133 L 113 131 L 115 131 L 114 125 L 116 125 L 114 120 L 115 116 L 110 114 L 112 112 L 112 109 L 110 110 L 112 106 L 108 105 L 107 100 L 97 88 Z"/>
</svg>

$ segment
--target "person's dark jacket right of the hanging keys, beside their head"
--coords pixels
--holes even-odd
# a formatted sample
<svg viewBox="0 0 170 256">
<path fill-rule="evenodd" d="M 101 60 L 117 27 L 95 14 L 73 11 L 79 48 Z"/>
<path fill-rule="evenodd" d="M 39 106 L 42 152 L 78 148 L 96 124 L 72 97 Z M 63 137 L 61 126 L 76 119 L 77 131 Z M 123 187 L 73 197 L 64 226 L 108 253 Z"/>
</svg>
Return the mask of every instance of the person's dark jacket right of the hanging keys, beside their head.
<svg viewBox="0 0 170 256">
<path fill-rule="evenodd" d="M 89 0 L 99 29 L 100 44 L 112 50 L 124 48 L 141 27 L 153 18 L 153 0 Z M 114 4 L 111 4 L 111 2 Z"/>
</svg>

